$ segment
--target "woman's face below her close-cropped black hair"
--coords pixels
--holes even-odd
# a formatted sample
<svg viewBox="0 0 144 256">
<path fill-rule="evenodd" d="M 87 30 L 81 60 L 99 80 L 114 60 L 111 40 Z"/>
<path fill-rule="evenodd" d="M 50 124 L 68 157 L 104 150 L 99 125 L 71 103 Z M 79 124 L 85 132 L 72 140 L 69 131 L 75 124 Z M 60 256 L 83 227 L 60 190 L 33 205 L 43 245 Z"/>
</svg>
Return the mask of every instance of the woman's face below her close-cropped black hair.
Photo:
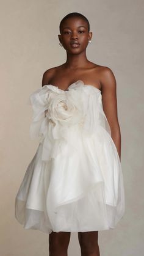
<svg viewBox="0 0 144 256">
<path fill-rule="evenodd" d="M 88 32 L 87 21 L 73 17 L 63 22 L 58 37 L 68 53 L 78 54 L 87 48 L 92 32 Z"/>
</svg>

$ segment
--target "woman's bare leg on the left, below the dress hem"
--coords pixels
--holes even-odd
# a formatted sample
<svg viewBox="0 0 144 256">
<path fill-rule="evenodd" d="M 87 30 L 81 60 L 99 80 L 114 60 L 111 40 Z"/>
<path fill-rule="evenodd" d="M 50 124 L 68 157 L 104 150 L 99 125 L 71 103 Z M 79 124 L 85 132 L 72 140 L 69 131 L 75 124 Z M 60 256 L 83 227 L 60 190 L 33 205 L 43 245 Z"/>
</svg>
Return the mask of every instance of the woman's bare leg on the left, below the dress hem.
<svg viewBox="0 0 144 256">
<path fill-rule="evenodd" d="M 51 232 L 49 234 L 49 256 L 67 256 L 70 232 Z"/>
</svg>

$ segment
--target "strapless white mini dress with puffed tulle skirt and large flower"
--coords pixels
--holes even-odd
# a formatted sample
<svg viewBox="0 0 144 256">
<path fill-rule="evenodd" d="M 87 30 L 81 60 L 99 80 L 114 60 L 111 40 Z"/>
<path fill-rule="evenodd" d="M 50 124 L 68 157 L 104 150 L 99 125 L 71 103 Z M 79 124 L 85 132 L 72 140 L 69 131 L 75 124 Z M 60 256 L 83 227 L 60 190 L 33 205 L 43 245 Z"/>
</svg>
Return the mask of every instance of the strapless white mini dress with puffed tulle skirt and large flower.
<svg viewBox="0 0 144 256">
<path fill-rule="evenodd" d="M 114 229 L 125 211 L 120 158 L 101 90 L 78 80 L 29 97 L 39 145 L 15 199 L 25 229 L 45 233 Z"/>
</svg>

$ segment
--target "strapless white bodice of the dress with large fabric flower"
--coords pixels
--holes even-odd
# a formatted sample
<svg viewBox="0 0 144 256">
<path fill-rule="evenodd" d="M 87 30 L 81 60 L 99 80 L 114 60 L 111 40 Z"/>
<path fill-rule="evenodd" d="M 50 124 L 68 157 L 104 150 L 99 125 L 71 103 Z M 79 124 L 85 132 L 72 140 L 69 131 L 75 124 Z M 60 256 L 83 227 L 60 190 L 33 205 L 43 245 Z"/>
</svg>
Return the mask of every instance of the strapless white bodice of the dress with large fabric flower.
<svg viewBox="0 0 144 256">
<path fill-rule="evenodd" d="M 78 80 L 67 90 L 51 84 L 45 85 L 30 95 L 33 109 L 30 135 L 40 141 L 65 139 L 81 133 L 91 136 L 99 127 L 109 135 L 110 126 L 103 111 L 101 90 L 85 85 Z M 48 141 L 47 141 L 48 142 Z"/>
</svg>

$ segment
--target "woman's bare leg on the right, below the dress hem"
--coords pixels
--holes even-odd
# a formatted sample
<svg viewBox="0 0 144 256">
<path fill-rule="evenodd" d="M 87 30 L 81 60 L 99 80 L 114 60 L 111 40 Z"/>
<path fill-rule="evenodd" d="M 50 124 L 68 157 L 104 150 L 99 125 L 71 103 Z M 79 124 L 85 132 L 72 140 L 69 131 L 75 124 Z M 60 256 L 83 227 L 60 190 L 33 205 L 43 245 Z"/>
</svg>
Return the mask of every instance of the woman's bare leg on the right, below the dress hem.
<svg viewBox="0 0 144 256">
<path fill-rule="evenodd" d="M 99 256 L 98 231 L 78 232 L 81 256 Z"/>
</svg>

